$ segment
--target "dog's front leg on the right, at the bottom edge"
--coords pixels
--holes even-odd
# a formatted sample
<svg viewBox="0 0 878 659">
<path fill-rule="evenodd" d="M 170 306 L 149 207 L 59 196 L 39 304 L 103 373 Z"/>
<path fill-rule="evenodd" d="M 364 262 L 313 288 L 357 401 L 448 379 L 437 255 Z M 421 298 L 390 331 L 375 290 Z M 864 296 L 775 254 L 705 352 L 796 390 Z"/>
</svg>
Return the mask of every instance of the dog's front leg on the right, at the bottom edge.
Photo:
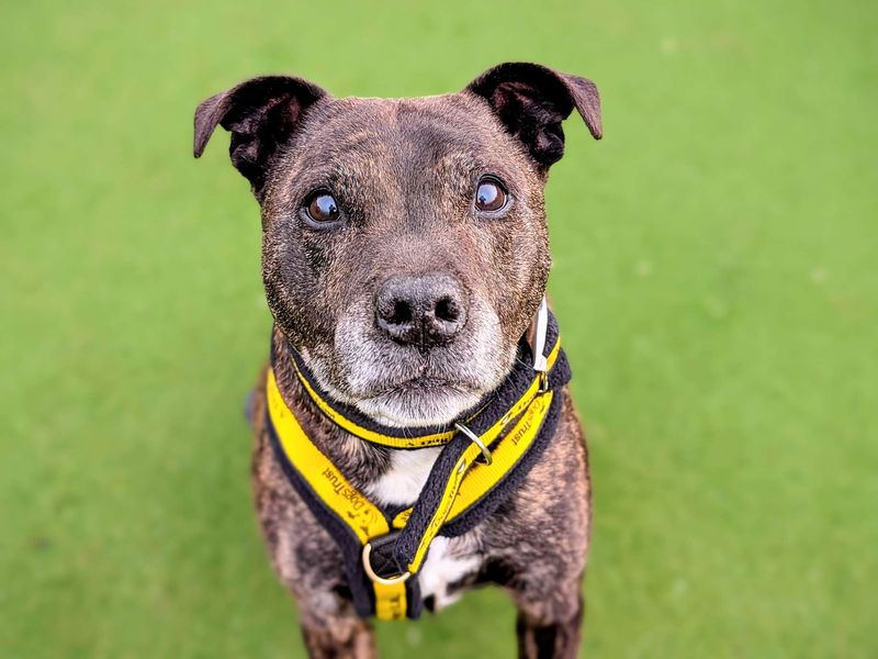
<svg viewBox="0 0 878 659">
<path fill-rule="evenodd" d="M 518 656 L 521 659 L 575 659 L 579 651 L 583 596 L 578 580 L 548 599 L 514 594 L 518 607 Z"/>
</svg>

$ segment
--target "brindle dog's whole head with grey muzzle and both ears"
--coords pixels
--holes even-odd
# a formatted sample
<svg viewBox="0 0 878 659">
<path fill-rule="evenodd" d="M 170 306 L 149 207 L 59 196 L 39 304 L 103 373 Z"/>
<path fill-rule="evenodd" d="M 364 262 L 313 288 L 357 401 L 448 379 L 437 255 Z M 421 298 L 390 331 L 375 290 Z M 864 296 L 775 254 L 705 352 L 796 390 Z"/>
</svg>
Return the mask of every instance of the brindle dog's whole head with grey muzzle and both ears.
<svg viewBox="0 0 878 659">
<path fill-rule="evenodd" d="M 508 372 L 545 290 L 543 187 L 597 91 L 529 64 L 464 91 L 335 99 L 256 78 L 202 103 L 262 211 L 269 306 L 336 399 L 394 425 L 447 423 Z"/>
</svg>

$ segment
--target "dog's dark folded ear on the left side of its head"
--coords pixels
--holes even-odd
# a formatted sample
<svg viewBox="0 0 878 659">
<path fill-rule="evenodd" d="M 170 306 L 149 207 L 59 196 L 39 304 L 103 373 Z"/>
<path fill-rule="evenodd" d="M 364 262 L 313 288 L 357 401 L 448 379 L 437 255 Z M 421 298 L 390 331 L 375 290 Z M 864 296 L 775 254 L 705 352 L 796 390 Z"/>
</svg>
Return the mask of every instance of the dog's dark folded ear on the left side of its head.
<svg viewBox="0 0 878 659">
<path fill-rule="evenodd" d="M 271 157 L 293 133 L 304 112 L 327 92 L 301 78 L 252 78 L 209 98 L 195 109 L 195 157 L 217 124 L 232 133 L 232 164 L 259 197 Z"/>
</svg>

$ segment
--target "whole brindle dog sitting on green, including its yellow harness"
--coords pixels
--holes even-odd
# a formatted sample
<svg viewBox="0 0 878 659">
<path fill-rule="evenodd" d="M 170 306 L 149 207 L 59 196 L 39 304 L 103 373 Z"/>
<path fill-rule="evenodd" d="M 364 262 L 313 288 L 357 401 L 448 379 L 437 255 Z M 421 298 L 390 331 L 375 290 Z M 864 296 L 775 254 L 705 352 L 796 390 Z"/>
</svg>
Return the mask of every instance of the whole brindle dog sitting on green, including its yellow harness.
<svg viewBox="0 0 878 659">
<path fill-rule="evenodd" d="M 599 139 L 590 80 L 506 63 L 463 91 L 408 99 L 258 77 L 195 111 L 195 157 L 226 129 L 261 209 L 274 324 L 248 406 L 252 485 L 312 657 L 373 657 L 376 610 L 417 617 L 484 583 L 511 596 L 521 657 L 577 655 L 587 450 L 567 378 L 555 377 L 564 368 L 539 366 L 558 343 L 544 306 L 544 186 L 573 110 Z M 480 436 L 497 406 L 488 422 L 502 417 L 499 431 Z M 520 437 L 530 448 L 496 467 Z M 451 447 L 458 461 L 443 457 Z M 507 471 L 470 492 L 455 526 L 454 502 L 476 488 L 468 471 L 489 473 L 492 455 Z M 417 520 L 428 521 L 421 535 L 401 548 Z M 372 524 L 390 568 L 375 567 Z M 417 543 L 420 559 L 401 565 Z"/>
</svg>

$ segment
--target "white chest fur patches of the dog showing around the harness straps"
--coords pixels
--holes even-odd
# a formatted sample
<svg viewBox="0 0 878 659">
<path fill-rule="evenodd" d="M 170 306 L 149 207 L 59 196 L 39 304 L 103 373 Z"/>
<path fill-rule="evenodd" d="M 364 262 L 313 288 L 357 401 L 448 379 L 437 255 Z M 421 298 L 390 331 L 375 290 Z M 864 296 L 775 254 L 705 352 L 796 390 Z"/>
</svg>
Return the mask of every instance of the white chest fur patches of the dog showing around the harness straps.
<svg viewBox="0 0 878 659">
<path fill-rule="evenodd" d="M 427 482 L 440 450 L 435 447 L 394 451 L 390 470 L 367 485 L 367 494 L 384 505 L 412 505 Z M 449 587 L 475 572 L 480 563 L 476 547 L 465 535 L 457 538 L 437 536 L 419 572 L 421 595 L 425 600 L 432 597 L 436 608 L 452 604 L 459 593 L 451 592 Z"/>
</svg>

